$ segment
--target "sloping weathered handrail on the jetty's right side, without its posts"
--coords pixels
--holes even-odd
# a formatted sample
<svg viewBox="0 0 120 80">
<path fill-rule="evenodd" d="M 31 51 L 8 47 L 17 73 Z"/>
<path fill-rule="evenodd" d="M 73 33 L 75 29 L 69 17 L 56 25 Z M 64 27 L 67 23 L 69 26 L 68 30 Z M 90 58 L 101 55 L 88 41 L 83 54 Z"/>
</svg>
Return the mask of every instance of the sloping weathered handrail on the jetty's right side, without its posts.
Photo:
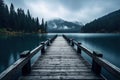
<svg viewBox="0 0 120 80">
<path fill-rule="evenodd" d="M 69 39 L 67 36 L 63 35 L 63 37 L 69 42 L 71 43 L 71 39 Z M 107 61 L 106 59 L 103 59 L 101 57 L 97 57 L 94 51 L 91 52 L 89 51 L 87 48 L 85 48 L 82 45 L 79 45 L 77 41 L 72 39 L 72 43 L 73 45 L 75 44 L 78 48 L 80 48 L 81 50 L 83 50 L 85 53 L 87 53 L 93 60 L 95 60 L 95 62 L 97 64 L 99 64 L 101 67 L 105 68 L 107 71 L 109 71 L 111 74 L 113 74 L 114 76 L 116 76 L 118 79 L 120 79 L 120 68 L 118 68 L 117 66 L 113 65 L 112 63 L 110 63 L 109 61 Z"/>
</svg>

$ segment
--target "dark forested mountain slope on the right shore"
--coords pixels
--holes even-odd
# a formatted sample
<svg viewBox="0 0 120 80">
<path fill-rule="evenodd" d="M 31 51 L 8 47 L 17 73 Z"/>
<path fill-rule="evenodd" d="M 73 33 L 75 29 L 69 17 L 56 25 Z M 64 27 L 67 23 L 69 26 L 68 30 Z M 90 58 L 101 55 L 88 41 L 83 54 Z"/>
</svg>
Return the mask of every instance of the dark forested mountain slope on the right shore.
<svg viewBox="0 0 120 80">
<path fill-rule="evenodd" d="M 120 33 L 120 10 L 87 23 L 81 28 L 85 33 Z"/>
</svg>

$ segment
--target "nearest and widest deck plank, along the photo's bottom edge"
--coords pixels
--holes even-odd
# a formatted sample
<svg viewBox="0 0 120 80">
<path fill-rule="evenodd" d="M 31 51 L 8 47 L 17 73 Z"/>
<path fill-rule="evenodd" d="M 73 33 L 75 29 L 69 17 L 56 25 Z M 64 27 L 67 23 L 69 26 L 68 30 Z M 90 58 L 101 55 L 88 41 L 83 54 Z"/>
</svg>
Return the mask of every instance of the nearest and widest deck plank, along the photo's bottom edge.
<svg viewBox="0 0 120 80">
<path fill-rule="evenodd" d="M 103 80 L 99 76 L 26 76 L 20 80 Z"/>
</svg>

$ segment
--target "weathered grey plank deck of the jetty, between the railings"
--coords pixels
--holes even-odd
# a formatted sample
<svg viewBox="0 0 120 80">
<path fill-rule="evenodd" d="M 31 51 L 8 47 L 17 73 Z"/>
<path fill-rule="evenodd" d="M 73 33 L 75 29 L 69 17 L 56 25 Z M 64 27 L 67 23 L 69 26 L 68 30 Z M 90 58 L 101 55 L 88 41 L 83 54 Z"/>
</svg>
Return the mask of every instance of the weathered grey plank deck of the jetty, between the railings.
<svg viewBox="0 0 120 80">
<path fill-rule="evenodd" d="M 30 74 L 19 80 L 103 80 L 91 65 L 58 36 L 31 67 Z"/>
</svg>

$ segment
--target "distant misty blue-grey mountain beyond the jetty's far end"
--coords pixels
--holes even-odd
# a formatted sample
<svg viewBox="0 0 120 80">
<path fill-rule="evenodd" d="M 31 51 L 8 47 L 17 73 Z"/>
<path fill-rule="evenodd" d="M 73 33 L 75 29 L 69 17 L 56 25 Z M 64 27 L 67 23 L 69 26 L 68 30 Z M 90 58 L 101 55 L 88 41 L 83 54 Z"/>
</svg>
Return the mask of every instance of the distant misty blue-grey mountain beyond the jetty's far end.
<svg viewBox="0 0 120 80">
<path fill-rule="evenodd" d="M 53 19 L 47 21 L 48 24 L 48 32 L 52 33 L 77 33 L 80 32 L 81 27 L 83 26 L 82 23 L 75 23 L 65 21 L 63 19 Z"/>
</svg>

